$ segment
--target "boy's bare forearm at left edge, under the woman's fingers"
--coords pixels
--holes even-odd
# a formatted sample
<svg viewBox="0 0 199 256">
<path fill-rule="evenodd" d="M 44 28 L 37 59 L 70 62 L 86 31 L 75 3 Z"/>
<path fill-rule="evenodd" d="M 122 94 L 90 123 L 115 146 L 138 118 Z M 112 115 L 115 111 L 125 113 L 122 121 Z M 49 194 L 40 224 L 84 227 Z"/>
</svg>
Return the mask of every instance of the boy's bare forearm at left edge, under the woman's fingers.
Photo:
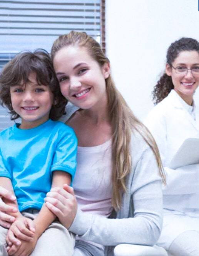
<svg viewBox="0 0 199 256">
<path fill-rule="evenodd" d="M 12 182 L 11 182 L 10 178 L 0 177 L 0 186 L 2 186 L 3 188 L 6 188 L 8 191 L 10 191 L 12 193 L 12 195 L 15 196 L 13 186 L 12 186 Z M 3 202 L 6 203 L 7 205 L 10 205 L 10 206 L 15 207 L 17 209 L 16 212 L 10 212 L 10 215 L 12 215 L 15 218 L 19 217 L 21 215 L 20 211 L 18 210 L 17 199 L 13 200 L 13 201 L 10 201 L 6 198 L 3 198 Z"/>
</svg>

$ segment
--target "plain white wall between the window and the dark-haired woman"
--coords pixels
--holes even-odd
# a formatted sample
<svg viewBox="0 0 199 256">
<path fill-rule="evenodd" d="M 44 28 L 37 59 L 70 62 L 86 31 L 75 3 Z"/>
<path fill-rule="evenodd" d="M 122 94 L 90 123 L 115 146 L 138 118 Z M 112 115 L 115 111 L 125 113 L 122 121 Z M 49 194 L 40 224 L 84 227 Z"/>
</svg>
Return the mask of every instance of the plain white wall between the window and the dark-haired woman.
<svg viewBox="0 0 199 256">
<path fill-rule="evenodd" d="M 112 76 L 141 120 L 153 107 L 151 91 L 164 71 L 167 48 L 180 37 L 199 41 L 198 0 L 106 0 Z"/>
</svg>

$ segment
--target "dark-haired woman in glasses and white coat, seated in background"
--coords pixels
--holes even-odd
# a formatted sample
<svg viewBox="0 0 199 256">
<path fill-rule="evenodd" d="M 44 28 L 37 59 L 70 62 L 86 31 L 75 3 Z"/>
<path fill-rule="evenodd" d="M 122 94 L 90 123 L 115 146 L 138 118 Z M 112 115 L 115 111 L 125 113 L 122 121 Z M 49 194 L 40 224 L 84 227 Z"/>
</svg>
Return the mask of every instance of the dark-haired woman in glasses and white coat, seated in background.
<svg viewBox="0 0 199 256">
<path fill-rule="evenodd" d="M 182 163 L 171 165 L 186 139 L 199 139 L 199 110 L 193 99 L 198 85 L 199 42 L 181 38 L 167 50 L 166 71 L 153 91 L 157 105 L 145 120 L 159 147 L 167 178 L 158 245 L 174 256 L 199 256 L 199 162 L 193 157 L 199 152 L 187 146 Z M 189 155 L 193 163 L 183 163 Z"/>
</svg>

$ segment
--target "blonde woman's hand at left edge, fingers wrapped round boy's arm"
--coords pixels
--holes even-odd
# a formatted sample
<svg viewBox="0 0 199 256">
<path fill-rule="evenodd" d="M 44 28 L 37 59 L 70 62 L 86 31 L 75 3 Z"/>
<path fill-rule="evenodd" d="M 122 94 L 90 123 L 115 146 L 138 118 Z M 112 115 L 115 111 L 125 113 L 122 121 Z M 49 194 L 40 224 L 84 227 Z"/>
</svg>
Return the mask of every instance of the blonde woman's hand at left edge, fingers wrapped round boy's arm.
<svg viewBox="0 0 199 256">
<path fill-rule="evenodd" d="M 0 225 L 6 228 L 10 228 L 10 225 L 15 221 L 15 217 L 12 217 L 10 213 L 17 212 L 17 209 L 7 205 L 2 199 L 15 201 L 16 197 L 12 195 L 7 189 L 0 186 Z"/>
</svg>

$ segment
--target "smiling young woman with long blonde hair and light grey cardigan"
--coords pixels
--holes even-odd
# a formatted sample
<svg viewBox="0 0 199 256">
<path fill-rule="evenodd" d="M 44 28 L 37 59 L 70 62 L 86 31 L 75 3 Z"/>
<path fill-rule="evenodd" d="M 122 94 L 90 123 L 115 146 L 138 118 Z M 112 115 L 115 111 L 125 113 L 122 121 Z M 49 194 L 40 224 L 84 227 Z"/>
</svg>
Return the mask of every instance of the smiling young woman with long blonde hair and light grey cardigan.
<svg viewBox="0 0 199 256">
<path fill-rule="evenodd" d="M 92 37 L 62 35 L 51 55 L 61 92 L 73 104 L 62 121 L 74 129 L 78 152 L 73 188 L 52 189 L 46 206 L 76 234 L 76 256 L 112 255 L 120 243 L 154 245 L 164 175 L 151 134 L 115 88 L 109 59 Z"/>
</svg>

